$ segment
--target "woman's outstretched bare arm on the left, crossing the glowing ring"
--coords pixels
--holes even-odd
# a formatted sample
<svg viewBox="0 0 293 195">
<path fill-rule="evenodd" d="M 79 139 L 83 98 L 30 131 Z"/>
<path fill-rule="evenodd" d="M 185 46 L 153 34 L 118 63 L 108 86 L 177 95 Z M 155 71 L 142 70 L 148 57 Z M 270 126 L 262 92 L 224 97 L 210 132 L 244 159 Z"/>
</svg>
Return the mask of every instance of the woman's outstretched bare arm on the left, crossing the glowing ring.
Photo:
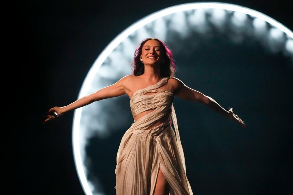
<svg viewBox="0 0 293 195">
<path fill-rule="evenodd" d="M 83 107 L 85 105 L 89 105 L 92 102 L 124 95 L 129 92 L 128 86 L 129 86 L 129 83 L 132 82 L 132 76 L 133 75 L 124 76 L 123 78 L 118 80 L 116 83 L 114 83 L 108 87 L 104 87 L 100 90 L 97 90 L 95 93 L 86 95 L 86 96 L 74 101 L 73 103 L 71 103 L 67 106 L 53 107 L 47 113 L 55 111 L 61 116 L 65 112 L 69 112 L 71 110 Z M 54 115 L 48 115 L 47 117 L 48 118 L 44 122 L 46 122 L 52 118 L 55 119 Z"/>
</svg>

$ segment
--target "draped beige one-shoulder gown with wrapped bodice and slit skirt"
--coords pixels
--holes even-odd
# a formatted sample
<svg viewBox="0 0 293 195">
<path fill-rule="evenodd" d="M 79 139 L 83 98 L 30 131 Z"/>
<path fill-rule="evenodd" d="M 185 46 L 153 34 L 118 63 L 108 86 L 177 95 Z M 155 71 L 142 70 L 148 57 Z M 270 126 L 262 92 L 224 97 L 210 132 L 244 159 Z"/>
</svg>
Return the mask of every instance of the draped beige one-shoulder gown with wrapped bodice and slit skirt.
<svg viewBox="0 0 293 195">
<path fill-rule="evenodd" d="M 193 195 L 186 176 L 173 107 L 174 95 L 169 90 L 158 89 L 164 87 L 169 78 L 137 90 L 130 100 L 133 117 L 147 110 L 153 111 L 134 122 L 122 137 L 115 168 L 117 195 L 153 195 L 159 167 L 170 185 L 169 195 Z M 165 115 L 168 120 L 153 125 Z M 169 123 L 170 117 L 175 133 Z M 154 127 L 149 128 L 152 125 Z"/>
</svg>

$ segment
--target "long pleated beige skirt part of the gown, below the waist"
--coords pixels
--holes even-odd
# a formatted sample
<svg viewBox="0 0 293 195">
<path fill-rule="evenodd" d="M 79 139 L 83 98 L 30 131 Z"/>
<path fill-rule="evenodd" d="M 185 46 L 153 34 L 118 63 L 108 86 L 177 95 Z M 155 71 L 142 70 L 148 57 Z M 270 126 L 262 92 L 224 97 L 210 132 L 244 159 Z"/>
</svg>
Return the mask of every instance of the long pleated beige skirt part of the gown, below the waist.
<svg viewBox="0 0 293 195">
<path fill-rule="evenodd" d="M 117 153 L 117 195 L 153 195 L 159 167 L 170 185 L 170 195 L 192 195 L 174 130 L 168 124 L 158 135 L 129 128 Z"/>
</svg>

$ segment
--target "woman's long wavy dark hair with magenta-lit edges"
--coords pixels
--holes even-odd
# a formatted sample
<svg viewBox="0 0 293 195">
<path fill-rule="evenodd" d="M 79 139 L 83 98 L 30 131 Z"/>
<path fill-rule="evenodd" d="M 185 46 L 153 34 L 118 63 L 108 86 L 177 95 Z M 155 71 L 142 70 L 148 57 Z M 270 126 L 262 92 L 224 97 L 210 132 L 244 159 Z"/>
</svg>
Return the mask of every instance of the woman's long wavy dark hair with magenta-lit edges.
<svg viewBox="0 0 293 195">
<path fill-rule="evenodd" d="M 160 75 L 162 77 L 172 77 L 175 76 L 175 63 L 174 59 L 172 59 L 172 52 L 171 50 L 164 44 L 163 41 L 157 39 L 157 38 L 146 38 L 144 39 L 139 47 L 134 52 L 134 61 L 131 63 L 131 66 L 133 66 L 132 74 L 135 76 L 142 75 L 144 73 L 144 64 L 140 61 L 140 55 L 142 54 L 142 48 L 145 42 L 149 40 L 156 40 L 161 44 L 161 52 L 163 54 L 163 61 L 160 66 Z"/>
</svg>

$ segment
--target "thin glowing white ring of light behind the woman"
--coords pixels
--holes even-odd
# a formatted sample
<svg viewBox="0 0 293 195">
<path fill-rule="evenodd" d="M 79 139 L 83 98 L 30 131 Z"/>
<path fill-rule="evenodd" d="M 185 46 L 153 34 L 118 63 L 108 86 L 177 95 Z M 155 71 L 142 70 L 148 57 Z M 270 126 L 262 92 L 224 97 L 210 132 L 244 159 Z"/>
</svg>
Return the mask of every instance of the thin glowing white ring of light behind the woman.
<svg viewBox="0 0 293 195">
<path fill-rule="evenodd" d="M 102 65 L 102 63 L 105 61 L 105 59 L 108 57 L 108 55 L 116 48 L 126 37 L 128 37 L 130 34 L 138 30 L 139 28 L 145 26 L 146 24 L 161 18 L 163 16 L 170 15 L 172 13 L 176 12 L 182 12 L 186 10 L 193 10 L 193 9 L 222 9 L 227 11 L 234 11 L 239 12 L 242 14 L 248 14 L 250 16 L 262 19 L 263 21 L 271 24 L 272 26 L 278 28 L 279 30 L 283 31 L 285 34 L 287 34 L 288 38 L 293 39 L 293 33 L 291 30 L 289 30 L 287 27 L 282 25 L 281 23 L 277 22 L 276 20 L 272 19 L 269 16 L 266 16 L 258 11 L 248 9 L 239 5 L 232 5 L 232 4 L 226 4 L 226 3 L 187 3 L 182 5 L 176 5 L 172 6 L 166 9 L 163 9 L 161 11 L 155 12 L 138 22 L 134 23 L 130 27 L 128 27 L 126 30 L 124 30 L 121 34 L 119 34 L 111 43 L 102 51 L 102 53 L 99 55 L 99 57 L 94 62 L 92 68 L 90 69 L 88 75 L 85 78 L 85 81 L 82 85 L 81 91 L 79 93 L 78 98 L 81 98 L 85 95 L 87 95 L 87 91 L 89 89 L 89 84 L 92 82 L 96 72 L 98 71 L 99 67 Z M 290 51 L 292 49 L 293 41 L 290 40 L 286 44 L 286 48 L 290 47 Z M 289 49 L 288 49 L 289 50 Z M 90 185 L 87 182 L 85 171 L 82 165 L 82 159 L 81 159 L 81 151 L 80 151 L 80 140 L 79 140 L 79 131 L 80 131 L 80 120 L 81 120 L 81 111 L 82 108 L 78 108 L 74 112 L 74 123 L 73 123 L 73 150 L 74 150 L 74 159 L 75 159 L 75 165 L 76 169 L 78 171 L 78 176 L 80 179 L 80 182 L 82 184 L 83 190 L 87 195 L 92 195 L 92 191 L 90 189 Z M 114 187 L 114 186 L 113 186 Z"/>
</svg>

